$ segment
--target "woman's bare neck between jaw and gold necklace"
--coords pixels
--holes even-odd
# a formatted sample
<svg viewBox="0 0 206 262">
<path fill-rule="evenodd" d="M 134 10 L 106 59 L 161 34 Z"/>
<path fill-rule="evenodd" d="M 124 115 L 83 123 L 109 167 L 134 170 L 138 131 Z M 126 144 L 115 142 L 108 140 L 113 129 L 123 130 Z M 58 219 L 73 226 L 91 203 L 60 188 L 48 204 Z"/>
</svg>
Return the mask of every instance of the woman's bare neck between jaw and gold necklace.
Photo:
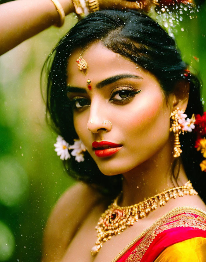
<svg viewBox="0 0 206 262">
<path fill-rule="evenodd" d="M 155 156 L 123 174 L 121 206 L 137 204 L 169 188 L 183 186 L 188 178 L 180 159 L 174 174 L 178 173 L 177 183 L 172 177 L 174 157 L 171 146 L 166 145 Z M 179 169 L 179 172 L 178 172 Z"/>
</svg>

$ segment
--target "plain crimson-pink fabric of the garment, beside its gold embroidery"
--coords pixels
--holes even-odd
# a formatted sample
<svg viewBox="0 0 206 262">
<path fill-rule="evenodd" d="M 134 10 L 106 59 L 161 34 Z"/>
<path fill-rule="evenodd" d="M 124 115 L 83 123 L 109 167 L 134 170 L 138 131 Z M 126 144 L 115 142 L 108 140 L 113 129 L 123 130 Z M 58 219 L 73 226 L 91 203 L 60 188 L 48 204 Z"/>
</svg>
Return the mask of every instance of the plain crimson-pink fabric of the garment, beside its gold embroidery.
<svg viewBox="0 0 206 262">
<path fill-rule="evenodd" d="M 185 214 L 185 213 L 183 213 Z M 195 217 L 198 217 L 195 214 L 192 214 Z M 179 216 L 176 215 L 176 216 Z M 175 216 L 174 216 L 175 217 Z M 173 217 L 173 218 L 174 218 Z M 177 218 L 178 220 L 178 218 Z M 170 223 L 170 222 L 169 222 Z M 169 223 L 166 223 L 168 225 Z M 173 222 L 171 222 L 173 223 Z M 171 229 L 166 229 L 163 232 L 157 234 L 157 236 L 153 239 L 149 248 L 143 255 L 141 262 L 153 262 L 155 258 L 168 246 L 172 244 L 176 244 L 178 242 L 182 242 L 184 240 L 193 238 L 193 237 L 206 237 L 206 231 L 193 227 L 175 227 Z M 135 256 L 135 247 L 137 247 L 141 241 L 144 239 L 142 237 L 139 239 L 117 262 L 124 262 L 128 258 L 130 254 L 134 254 Z"/>
</svg>

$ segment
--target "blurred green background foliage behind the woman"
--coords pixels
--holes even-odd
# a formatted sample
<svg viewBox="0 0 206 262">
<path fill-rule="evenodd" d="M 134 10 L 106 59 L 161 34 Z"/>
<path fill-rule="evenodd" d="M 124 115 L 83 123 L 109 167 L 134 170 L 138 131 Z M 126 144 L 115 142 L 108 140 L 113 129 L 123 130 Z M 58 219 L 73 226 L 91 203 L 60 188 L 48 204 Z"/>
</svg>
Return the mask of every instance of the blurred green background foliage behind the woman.
<svg viewBox="0 0 206 262">
<path fill-rule="evenodd" d="M 186 12 L 180 25 L 169 30 L 183 60 L 206 86 L 206 6 L 190 16 Z M 60 29 L 50 27 L 0 57 L 0 261 L 40 261 L 51 208 L 74 183 L 54 151 L 56 134 L 45 121 L 40 72 L 76 21 L 70 14 Z"/>
</svg>

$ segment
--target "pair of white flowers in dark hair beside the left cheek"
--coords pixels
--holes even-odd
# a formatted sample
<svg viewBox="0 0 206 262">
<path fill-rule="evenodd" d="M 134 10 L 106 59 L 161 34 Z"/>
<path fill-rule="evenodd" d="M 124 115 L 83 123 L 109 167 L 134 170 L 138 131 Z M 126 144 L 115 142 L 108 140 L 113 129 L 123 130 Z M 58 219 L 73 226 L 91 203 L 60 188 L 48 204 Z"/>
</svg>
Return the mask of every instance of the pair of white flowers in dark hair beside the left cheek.
<svg viewBox="0 0 206 262">
<path fill-rule="evenodd" d="M 84 161 L 84 153 L 86 151 L 86 147 L 83 144 L 83 142 L 80 139 L 74 139 L 74 144 L 69 145 L 63 137 L 60 135 L 56 139 L 56 143 L 54 144 L 55 151 L 57 153 L 57 156 L 60 156 L 61 160 L 67 160 L 68 158 L 71 158 L 69 154 L 69 150 L 73 149 L 71 151 L 71 155 L 75 156 L 75 160 L 77 162 L 83 162 Z"/>
</svg>

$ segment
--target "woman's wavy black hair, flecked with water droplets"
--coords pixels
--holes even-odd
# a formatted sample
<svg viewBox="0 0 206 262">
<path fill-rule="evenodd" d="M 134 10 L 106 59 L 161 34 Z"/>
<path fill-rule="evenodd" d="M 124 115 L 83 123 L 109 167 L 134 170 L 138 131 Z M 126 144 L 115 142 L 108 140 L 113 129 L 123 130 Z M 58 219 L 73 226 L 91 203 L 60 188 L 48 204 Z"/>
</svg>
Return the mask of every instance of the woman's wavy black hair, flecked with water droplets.
<svg viewBox="0 0 206 262">
<path fill-rule="evenodd" d="M 101 41 L 108 49 L 130 59 L 153 73 L 165 94 L 174 92 L 178 81 L 190 83 L 190 94 L 186 114 L 202 115 L 200 81 L 189 74 L 185 76 L 187 64 L 182 61 L 175 41 L 154 20 L 138 11 L 103 10 L 89 14 L 80 20 L 59 41 L 44 68 L 47 70 L 47 112 L 56 132 L 69 144 L 77 138 L 73 126 L 72 105 L 66 96 L 66 67 L 69 56 L 76 48 L 87 48 L 94 41 Z M 194 148 L 193 132 L 181 135 L 182 161 L 188 178 L 202 198 L 205 180 L 199 163 L 200 153 Z M 175 161 L 177 164 L 178 160 Z M 121 174 L 103 175 L 95 161 L 85 152 L 85 161 L 78 163 L 73 157 L 64 161 L 69 175 L 98 187 L 101 192 L 114 197 L 121 191 Z M 174 175 L 175 178 L 177 176 Z M 203 181 L 203 182 L 202 182 Z"/>
</svg>

